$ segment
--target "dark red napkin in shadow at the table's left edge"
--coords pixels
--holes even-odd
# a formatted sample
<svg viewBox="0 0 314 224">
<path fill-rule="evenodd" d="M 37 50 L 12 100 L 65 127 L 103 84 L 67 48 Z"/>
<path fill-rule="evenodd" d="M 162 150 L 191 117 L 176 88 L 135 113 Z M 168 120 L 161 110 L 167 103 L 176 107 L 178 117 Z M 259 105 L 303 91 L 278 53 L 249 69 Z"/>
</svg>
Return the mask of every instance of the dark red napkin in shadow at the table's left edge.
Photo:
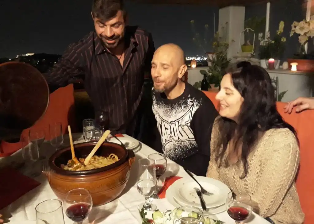
<svg viewBox="0 0 314 224">
<path fill-rule="evenodd" d="M 7 207 L 41 184 L 11 167 L 0 169 L 0 182 L 0 209 Z"/>
</svg>

